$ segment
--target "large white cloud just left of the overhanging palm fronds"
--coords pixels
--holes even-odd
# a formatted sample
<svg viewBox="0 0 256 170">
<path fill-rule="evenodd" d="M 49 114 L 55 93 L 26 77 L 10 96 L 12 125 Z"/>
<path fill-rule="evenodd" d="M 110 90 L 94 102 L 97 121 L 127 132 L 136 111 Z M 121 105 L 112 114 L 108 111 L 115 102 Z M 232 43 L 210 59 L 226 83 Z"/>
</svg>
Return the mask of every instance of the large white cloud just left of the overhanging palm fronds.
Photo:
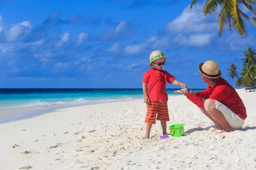
<svg viewBox="0 0 256 170">
<path fill-rule="evenodd" d="M 218 31 L 218 23 L 209 23 L 209 19 L 204 16 L 202 5 L 196 5 L 190 11 L 187 6 L 182 13 L 166 25 L 166 32 L 173 33 L 202 33 Z M 216 14 L 211 14 L 215 17 Z M 207 23 L 208 22 L 208 23 Z"/>
</svg>

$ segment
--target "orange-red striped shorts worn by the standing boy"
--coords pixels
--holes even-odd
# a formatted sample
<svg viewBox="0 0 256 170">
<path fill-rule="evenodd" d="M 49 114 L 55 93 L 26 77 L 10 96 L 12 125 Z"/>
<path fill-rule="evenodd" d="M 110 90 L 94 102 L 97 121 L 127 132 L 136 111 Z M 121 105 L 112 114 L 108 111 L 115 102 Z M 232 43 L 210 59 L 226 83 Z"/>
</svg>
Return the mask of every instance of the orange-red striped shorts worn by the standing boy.
<svg viewBox="0 0 256 170">
<path fill-rule="evenodd" d="M 151 101 L 147 104 L 145 123 L 156 124 L 156 120 L 170 121 L 167 102 Z"/>
</svg>

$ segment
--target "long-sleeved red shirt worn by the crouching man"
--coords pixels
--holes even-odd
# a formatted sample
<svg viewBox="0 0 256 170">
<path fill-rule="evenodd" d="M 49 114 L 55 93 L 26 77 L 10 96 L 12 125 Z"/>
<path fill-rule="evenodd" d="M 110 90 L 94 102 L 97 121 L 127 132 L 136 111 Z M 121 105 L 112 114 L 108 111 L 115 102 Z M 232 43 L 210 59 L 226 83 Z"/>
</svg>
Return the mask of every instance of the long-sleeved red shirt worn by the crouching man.
<svg viewBox="0 0 256 170">
<path fill-rule="evenodd" d="M 236 90 L 221 77 L 212 88 L 208 85 L 206 90 L 196 92 L 195 94 L 195 96 L 189 94 L 187 98 L 200 108 L 204 108 L 203 98 L 215 99 L 230 108 L 230 110 L 241 117 L 241 119 L 247 117 L 244 103 Z"/>
</svg>

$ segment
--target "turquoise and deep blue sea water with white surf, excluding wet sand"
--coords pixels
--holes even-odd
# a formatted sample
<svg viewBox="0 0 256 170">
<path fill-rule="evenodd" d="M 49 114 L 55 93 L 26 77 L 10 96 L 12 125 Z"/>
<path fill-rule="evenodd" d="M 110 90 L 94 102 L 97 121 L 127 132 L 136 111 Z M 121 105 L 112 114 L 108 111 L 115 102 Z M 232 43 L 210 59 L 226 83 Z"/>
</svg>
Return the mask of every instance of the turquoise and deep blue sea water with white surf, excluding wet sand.
<svg viewBox="0 0 256 170">
<path fill-rule="evenodd" d="M 168 89 L 168 95 L 177 89 Z M 196 89 L 193 91 L 201 91 Z M 89 105 L 143 98 L 142 89 L 0 89 L 0 109 Z"/>
</svg>

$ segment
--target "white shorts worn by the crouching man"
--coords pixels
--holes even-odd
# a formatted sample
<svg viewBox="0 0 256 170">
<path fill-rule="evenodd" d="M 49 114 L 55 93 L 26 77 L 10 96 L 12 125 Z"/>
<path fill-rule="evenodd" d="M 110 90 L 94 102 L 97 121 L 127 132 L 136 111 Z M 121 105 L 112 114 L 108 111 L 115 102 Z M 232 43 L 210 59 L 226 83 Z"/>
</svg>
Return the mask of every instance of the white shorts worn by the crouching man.
<svg viewBox="0 0 256 170">
<path fill-rule="evenodd" d="M 239 116 L 237 116 L 237 114 L 231 111 L 230 108 L 228 108 L 226 105 L 222 104 L 218 100 L 215 100 L 215 105 L 215 108 L 223 114 L 233 129 L 238 129 L 244 125 L 244 119 L 241 119 Z"/>
</svg>

